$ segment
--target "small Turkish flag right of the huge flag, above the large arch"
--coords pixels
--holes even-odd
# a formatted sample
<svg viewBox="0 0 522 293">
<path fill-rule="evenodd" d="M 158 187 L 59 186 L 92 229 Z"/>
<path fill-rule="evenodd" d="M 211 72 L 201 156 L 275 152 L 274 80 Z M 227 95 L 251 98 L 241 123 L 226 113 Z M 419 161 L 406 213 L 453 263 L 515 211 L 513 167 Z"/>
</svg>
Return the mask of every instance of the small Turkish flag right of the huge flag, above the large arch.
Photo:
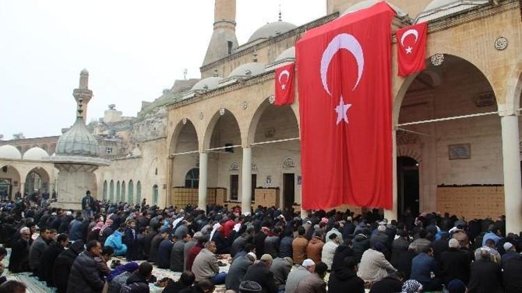
<svg viewBox="0 0 522 293">
<path fill-rule="evenodd" d="M 426 69 L 426 39 L 428 24 L 422 22 L 397 30 L 397 60 L 399 76 L 409 76 Z"/>
</svg>

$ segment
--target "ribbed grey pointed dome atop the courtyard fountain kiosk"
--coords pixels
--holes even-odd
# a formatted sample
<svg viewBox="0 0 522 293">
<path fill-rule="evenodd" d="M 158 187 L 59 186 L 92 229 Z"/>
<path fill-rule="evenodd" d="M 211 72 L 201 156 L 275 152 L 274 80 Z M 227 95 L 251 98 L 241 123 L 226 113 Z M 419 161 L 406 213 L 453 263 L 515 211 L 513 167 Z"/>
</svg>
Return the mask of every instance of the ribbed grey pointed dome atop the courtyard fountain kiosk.
<svg viewBox="0 0 522 293">
<path fill-rule="evenodd" d="M 77 117 L 74 125 L 58 139 L 56 155 L 98 156 L 98 142 L 87 130 L 82 117 Z"/>
</svg>

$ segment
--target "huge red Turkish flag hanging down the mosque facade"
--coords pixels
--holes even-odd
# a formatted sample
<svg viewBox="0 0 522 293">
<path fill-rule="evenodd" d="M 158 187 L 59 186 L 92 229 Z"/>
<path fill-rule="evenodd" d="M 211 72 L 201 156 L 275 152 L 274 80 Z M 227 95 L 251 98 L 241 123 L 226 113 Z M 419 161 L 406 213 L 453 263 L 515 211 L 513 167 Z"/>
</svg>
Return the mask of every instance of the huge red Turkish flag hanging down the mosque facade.
<svg viewBox="0 0 522 293">
<path fill-rule="evenodd" d="M 391 20 L 384 1 L 296 44 L 301 206 L 392 206 Z"/>
</svg>

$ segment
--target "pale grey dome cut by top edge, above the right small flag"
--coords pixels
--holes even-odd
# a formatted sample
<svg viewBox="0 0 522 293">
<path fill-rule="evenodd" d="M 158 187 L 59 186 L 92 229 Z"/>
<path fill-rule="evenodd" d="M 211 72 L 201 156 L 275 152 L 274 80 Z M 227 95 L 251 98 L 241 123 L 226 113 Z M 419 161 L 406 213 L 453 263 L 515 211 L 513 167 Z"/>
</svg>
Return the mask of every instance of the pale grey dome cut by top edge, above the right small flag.
<svg viewBox="0 0 522 293">
<path fill-rule="evenodd" d="M 445 15 L 489 3 L 489 0 L 434 0 L 418 15 L 416 22 L 427 22 Z"/>
</svg>

